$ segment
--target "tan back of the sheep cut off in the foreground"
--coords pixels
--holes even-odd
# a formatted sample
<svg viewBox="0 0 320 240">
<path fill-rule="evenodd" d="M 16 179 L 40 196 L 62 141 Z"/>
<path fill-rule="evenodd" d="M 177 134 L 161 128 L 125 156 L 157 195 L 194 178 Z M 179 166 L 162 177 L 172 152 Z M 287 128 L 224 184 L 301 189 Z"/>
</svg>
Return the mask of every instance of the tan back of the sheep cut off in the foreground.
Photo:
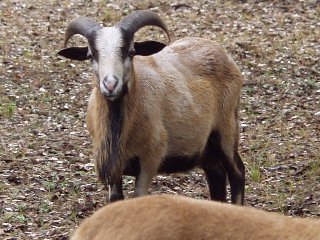
<svg viewBox="0 0 320 240">
<path fill-rule="evenodd" d="M 319 240 L 320 220 L 292 218 L 252 207 L 173 195 L 108 204 L 71 240 Z"/>
</svg>

